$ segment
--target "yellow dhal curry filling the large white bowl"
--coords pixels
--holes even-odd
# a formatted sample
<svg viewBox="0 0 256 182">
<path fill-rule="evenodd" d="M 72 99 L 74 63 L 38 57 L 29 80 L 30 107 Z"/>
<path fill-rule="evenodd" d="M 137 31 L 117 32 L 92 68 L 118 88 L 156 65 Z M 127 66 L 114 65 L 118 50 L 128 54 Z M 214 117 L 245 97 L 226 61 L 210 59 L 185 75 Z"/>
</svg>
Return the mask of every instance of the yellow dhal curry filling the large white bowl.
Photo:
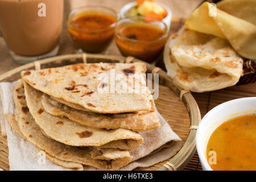
<svg viewBox="0 0 256 182">
<path fill-rule="evenodd" d="M 217 127 L 208 142 L 207 159 L 214 171 L 256 170 L 256 114 Z"/>
</svg>

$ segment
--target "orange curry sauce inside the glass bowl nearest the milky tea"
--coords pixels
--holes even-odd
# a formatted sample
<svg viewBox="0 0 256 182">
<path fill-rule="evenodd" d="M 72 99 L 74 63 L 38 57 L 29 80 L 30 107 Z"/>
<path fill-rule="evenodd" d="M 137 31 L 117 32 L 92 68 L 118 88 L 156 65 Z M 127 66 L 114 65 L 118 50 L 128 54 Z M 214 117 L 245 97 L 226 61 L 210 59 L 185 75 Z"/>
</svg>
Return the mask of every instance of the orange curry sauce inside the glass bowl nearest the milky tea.
<svg viewBox="0 0 256 182">
<path fill-rule="evenodd" d="M 69 34 L 84 52 L 105 51 L 114 36 L 114 16 L 97 11 L 77 15 L 68 23 Z"/>
</svg>

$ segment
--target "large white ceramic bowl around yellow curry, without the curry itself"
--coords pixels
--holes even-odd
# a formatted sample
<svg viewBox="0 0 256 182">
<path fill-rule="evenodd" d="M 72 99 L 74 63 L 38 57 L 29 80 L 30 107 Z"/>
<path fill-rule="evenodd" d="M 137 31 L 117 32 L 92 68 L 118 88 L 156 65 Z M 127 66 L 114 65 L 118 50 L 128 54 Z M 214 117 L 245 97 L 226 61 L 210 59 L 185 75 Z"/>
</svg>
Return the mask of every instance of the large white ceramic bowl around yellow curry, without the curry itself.
<svg viewBox="0 0 256 182">
<path fill-rule="evenodd" d="M 212 170 L 207 162 L 207 144 L 213 131 L 231 118 L 253 113 L 256 113 L 256 97 L 247 97 L 218 105 L 204 116 L 196 133 L 196 148 L 204 170 Z"/>
</svg>

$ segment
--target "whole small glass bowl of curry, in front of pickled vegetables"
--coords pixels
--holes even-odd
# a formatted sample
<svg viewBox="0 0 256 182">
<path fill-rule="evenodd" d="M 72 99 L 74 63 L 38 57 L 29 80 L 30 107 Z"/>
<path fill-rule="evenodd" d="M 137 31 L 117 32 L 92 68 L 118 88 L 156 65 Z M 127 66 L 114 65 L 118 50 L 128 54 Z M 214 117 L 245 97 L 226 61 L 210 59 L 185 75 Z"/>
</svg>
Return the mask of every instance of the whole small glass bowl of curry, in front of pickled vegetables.
<svg viewBox="0 0 256 182">
<path fill-rule="evenodd" d="M 115 43 L 123 56 L 152 63 L 161 55 L 169 27 L 159 19 L 134 16 L 115 24 Z"/>
</svg>

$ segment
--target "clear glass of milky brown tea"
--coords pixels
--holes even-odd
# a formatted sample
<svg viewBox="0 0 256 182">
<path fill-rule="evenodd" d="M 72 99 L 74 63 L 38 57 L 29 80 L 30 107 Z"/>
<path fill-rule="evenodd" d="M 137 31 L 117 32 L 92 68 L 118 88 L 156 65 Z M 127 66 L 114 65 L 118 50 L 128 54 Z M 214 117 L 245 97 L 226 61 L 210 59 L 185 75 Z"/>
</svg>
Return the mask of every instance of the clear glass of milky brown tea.
<svg viewBox="0 0 256 182">
<path fill-rule="evenodd" d="M 57 54 L 63 3 L 63 0 L 0 0 L 0 32 L 15 61 L 24 64 Z"/>
</svg>

